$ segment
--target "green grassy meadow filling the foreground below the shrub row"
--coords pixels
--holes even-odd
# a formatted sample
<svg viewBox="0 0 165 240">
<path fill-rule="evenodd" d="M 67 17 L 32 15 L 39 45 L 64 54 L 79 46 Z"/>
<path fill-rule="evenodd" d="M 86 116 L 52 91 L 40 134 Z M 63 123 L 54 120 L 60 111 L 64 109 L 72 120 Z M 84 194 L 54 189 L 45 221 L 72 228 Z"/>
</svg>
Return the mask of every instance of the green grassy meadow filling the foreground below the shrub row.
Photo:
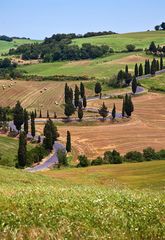
<svg viewBox="0 0 165 240">
<path fill-rule="evenodd" d="M 160 164 L 163 169 L 164 162 L 148 163 L 148 172 L 156 165 L 158 171 Z M 125 164 L 125 171 L 133 165 Z M 50 176 L 0 168 L 0 239 L 163 239 L 164 193 L 124 187 L 113 175 L 118 167 L 125 182 L 129 174 L 121 166 L 112 166 L 111 177 L 110 166 L 109 175 L 102 167 L 51 171 Z M 67 179 L 68 172 L 76 175 L 77 184 Z"/>
</svg>

